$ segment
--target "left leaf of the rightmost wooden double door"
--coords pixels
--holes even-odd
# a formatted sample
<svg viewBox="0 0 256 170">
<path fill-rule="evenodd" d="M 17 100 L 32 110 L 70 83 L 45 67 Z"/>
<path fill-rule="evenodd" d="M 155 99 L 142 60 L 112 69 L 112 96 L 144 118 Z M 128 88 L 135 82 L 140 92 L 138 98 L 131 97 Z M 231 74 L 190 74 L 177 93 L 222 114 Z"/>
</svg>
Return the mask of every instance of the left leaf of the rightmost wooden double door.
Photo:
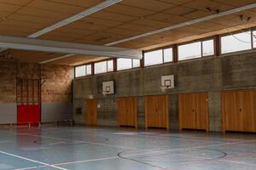
<svg viewBox="0 0 256 170">
<path fill-rule="evenodd" d="M 240 91 L 222 93 L 223 131 L 244 131 L 243 98 Z"/>
</svg>

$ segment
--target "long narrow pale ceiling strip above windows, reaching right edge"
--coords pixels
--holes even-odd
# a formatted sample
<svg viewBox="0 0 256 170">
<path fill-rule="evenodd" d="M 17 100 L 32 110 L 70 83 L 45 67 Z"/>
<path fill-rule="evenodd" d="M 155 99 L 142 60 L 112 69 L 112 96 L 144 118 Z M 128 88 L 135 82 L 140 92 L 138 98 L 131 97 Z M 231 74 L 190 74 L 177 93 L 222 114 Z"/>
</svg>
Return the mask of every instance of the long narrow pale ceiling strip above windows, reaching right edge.
<svg viewBox="0 0 256 170">
<path fill-rule="evenodd" d="M 230 9 L 230 10 L 227 10 L 227 11 L 224 11 L 224 12 L 220 12 L 218 14 L 211 14 L 209 16 L 202 17 L 202 18 L 199 18 L 199 19 L 189 20 L 189 21 L 186 21 L 186 22 L 174 25 L 174 26 L 167 26 L 167 27 L 161 28 L 159 30 L 149 31 L 149 32 L 146 32 L 146 33 L 134 36 L 134 37 L 128 37 L 128 38 L 125 38 L 125 39 L 122 39 L 122 40 L 119 40 L 119 41 L 116 41 L 116 42 L 109 42 L 106 45 L 107 46 L 112 46 L 112 45 L 119 44 L 119 43 L 122 43 L 122 42 L 129 42 L 131 40 L 135 40 L 135 39 L 138 39 L 138 38 L 141 38 L 141 37 L 148 37 L 148 36 L 152 36 L 154 34 L 158 34 L 158 33 L 164 32 L 164 31 L 171 31 L 171 30 L 183 27 L 183 26 L 191 26 L 193 24 L 197 24 L 197 23 L 200 23 L 200 22 L 203 22 L 203 21 L 216 19 L 216 18 L 225 16 L 225 15 L 229 15 L 229 14 L 235 14 L 235 13 L 238 13 L 238 12 L 250 9 L 250 8 L 256 8 L 256 3 L 251 3 L 251 4 L 248 4 L 248 5 L 239 7 L 239 8 L 233 8 L 233 9 Z"/>
</svg>

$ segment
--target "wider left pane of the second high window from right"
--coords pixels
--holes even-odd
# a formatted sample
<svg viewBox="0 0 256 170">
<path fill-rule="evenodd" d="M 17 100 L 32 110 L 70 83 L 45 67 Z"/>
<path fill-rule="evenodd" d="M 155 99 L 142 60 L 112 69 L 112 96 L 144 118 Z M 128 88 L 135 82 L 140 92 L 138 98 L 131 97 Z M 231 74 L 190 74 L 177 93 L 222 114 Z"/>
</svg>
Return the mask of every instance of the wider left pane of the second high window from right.
<svg viewBox="0 0 256 170">
<path fill-rule="evenodd" d="M 201 42 L 177 46 L 178 60 L 195 59 L 201 57 Z"/>
</svg>

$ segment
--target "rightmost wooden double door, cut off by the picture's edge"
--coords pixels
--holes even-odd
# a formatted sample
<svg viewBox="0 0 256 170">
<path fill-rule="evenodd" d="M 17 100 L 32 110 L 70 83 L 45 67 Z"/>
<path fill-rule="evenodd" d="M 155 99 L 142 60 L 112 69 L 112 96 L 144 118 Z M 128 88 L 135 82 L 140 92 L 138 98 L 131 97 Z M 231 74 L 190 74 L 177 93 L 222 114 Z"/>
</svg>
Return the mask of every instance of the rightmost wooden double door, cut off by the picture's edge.
<svg viewBox="0 0 256 170">
<path fill-rule="evenodd" d="M 256 132 L 256 90 L 222 92 L 223 132 Z"/>
</svg>

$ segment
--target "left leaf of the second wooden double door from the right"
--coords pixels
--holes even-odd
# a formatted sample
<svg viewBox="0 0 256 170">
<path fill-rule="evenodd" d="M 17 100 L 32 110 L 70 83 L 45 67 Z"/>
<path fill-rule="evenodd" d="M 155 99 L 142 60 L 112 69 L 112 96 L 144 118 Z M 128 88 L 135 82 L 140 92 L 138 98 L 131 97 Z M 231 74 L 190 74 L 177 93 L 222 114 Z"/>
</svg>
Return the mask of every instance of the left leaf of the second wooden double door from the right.
<svg viewBox="0 0 256 170">
<path fill-rule="evenodd" d="M 179 128 L 196 128 L 195 94 L 178 95 Z"/>
</svg>

